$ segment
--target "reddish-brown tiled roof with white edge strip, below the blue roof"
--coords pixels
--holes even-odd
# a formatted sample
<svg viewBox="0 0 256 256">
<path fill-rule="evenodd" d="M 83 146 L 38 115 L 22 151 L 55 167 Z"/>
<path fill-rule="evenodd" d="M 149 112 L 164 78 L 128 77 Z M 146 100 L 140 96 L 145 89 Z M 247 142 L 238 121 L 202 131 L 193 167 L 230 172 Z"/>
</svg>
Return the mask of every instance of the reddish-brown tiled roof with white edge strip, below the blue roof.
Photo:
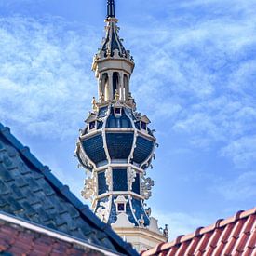
<svg viewBox="0 0 256 256">
<path fill-rule="evenodd" d="M 33 229 L 31 228 L 33 227 Z M 0 255 L 114 255 L 54 230 L 22 222 L 0 212 Z M 116 255 L 116 254 L 115 254 Z"/>
</svg>

